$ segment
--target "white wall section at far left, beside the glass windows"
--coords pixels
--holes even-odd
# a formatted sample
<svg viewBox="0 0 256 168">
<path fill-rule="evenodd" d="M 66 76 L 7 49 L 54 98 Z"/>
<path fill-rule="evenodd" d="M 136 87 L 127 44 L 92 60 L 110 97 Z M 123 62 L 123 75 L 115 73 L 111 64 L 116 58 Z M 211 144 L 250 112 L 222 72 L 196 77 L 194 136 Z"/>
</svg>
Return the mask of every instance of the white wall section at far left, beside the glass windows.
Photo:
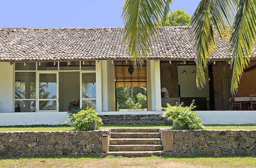
<svg viewBox="0 0 256 168">
<path fill-rule="evenodd" d="M 0 112 L 13 111 L 13 65 L 0 63 Z"/>
</svg>

